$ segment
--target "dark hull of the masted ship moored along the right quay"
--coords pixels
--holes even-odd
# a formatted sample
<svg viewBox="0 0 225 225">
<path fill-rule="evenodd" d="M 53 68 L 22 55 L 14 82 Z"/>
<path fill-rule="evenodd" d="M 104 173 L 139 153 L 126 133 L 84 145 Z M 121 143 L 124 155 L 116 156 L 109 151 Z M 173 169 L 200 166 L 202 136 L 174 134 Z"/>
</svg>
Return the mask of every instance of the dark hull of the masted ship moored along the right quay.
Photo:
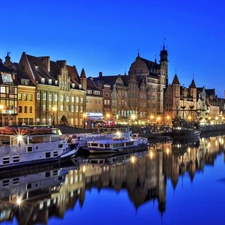
<svg viewBox="0 0 225 225">
<path fill-rule="evenodd" d="M 198 124 L 188 122 L 179 117 L 173 119 L 173 134 L 175 138 L 188 139 L 188 138 L 199 138 L 201 131 L 198 129 Z"/>
</svg>

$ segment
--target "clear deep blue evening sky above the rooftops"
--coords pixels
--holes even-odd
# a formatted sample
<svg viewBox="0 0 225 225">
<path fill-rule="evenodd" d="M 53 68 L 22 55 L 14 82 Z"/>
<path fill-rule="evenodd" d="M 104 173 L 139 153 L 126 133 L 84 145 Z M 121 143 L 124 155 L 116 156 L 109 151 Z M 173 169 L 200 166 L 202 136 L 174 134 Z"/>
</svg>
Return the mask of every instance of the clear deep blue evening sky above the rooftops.
<svg viewBox="0 0 225 225">
<path fill-rule="evenodd" d="M 137 56 L 169 53 L 169 83 L 225 90 L 223 0 L 7 0 L 0 3 L 0 58 L 22 52 L 66 60 L 87 77 L 128 72 Z"/>
</svg>

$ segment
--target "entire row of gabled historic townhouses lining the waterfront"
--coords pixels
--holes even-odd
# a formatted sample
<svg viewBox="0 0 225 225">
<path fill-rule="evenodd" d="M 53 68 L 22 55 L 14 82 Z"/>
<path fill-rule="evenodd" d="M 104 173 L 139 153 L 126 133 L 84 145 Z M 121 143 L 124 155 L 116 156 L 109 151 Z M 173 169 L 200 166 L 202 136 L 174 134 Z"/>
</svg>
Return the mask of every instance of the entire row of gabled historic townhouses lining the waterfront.
<svg viewBox="0 0 225 225">
<path fill-rule="evenodd" d="M 128 74 L 98 77 L 80 75 L 66 60 L 22 53 L 18 63 L 7 54 L 0 61 L 1 125 L 67 124 L 93 126 L 97 118 L 117 123 L 171 123 L 179 113 L 185 119 L 216 117 L 224 113 L 224 99 L 215 89 L 180 85 L 175 74 L 168 84 L 168 52 L 163 45 L 160 60 L 138 55 Z M 196 113 L 197 112 L 197 113 Z M 161 117 L 160 121 L 157 121 Z M 170 118 L 170 121 L 168 120 Z"/>
</svg>

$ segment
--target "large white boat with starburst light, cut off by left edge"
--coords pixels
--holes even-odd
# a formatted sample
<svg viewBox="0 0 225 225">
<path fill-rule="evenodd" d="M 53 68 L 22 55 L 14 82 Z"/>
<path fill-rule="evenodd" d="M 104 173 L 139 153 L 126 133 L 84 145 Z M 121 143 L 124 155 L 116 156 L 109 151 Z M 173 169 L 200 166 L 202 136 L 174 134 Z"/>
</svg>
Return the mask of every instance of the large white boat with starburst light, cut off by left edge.
<svg viewBox="0 0 225 225">
<path fill-rule="evenodd" d="M 65 160 L 78 148 L 68 145 L 58 128 L 0 127 L 0 171 Z"/>
</svg>

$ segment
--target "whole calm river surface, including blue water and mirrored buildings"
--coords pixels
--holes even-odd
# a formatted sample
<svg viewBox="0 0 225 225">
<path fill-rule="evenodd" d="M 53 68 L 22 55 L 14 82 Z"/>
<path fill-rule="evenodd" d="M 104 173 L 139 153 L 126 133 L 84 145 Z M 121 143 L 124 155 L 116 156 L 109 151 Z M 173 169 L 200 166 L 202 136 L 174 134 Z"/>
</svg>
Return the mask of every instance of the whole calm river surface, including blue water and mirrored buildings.
<svg viewBox="0 0 225 225">
<path fill-rule="evenodd" d="M 225 224 L 224 141 L 155 143 L 1 177 L 0 225 Z"/>
</svg>

